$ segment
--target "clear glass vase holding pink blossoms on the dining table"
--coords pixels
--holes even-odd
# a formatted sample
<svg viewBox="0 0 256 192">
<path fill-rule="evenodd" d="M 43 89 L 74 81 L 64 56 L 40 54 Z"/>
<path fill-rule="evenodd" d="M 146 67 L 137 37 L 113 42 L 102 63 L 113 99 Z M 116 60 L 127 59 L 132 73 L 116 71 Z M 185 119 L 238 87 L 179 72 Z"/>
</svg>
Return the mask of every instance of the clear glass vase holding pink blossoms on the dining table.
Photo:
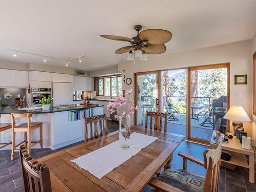
<svg viewBox="0 0 256 192">
<path fill-rule="evenodd" d="M 119 146 L 127 149 L 130 147 L 131 117 L 120 117 L 119 119 Z"/>
</svg>

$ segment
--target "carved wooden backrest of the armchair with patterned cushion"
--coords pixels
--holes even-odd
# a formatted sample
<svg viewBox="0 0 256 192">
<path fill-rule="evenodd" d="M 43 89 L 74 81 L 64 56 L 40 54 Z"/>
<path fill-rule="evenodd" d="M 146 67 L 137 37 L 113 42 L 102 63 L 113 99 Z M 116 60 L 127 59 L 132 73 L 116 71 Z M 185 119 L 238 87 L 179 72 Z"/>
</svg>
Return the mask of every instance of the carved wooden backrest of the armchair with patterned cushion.
<svg viewBox="0 0 256 192">
<path fill-rule="evenodd" d="M 211 150 L 204 152 L 204 166 L 206 168 L 204 191 L 217 192 L 221 166 L 221 134 L 217 133 L 217 144 Z"/>
</svg>

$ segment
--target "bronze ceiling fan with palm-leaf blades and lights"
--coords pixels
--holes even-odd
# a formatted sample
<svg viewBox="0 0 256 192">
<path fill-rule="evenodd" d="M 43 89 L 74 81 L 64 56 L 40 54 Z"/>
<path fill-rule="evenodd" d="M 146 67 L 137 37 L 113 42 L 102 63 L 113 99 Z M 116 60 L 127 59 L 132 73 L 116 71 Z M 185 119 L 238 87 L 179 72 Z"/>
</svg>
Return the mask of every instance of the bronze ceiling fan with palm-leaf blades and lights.
<svg viewBox="0 0 256 192">
<path fill-rule="evenodd" d="M 166 50 L 165 43 L 168 42 L 173 34 L 163 29 L 142 29 L 141 25 L 134 26 L 137 31 L 137 36 L 133 38 L 115 36 L 115 35 L 100 35 L 101 37 L 111 40 L 128 41 L 132 45 L 122 47 L 115 51 L 116 54 L 127 53 L 127 60 L 134 60 L 134 57 L 139 57 L 140 60 L 147 60 L 146 54 L 160 54 Z M 133 53 L 134 51 L 134 53 Z"/>
</svg>

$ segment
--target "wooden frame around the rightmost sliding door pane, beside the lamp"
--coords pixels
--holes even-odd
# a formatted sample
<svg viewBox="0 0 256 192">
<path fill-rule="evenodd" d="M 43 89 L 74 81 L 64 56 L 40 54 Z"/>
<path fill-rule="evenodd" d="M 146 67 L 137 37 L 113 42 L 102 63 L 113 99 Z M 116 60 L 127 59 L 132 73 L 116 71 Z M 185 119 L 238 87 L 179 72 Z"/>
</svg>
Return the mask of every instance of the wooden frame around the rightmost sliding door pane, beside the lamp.
<svg viewBox="0 0 256 192">
<path fill-rule="evenodd" d="M 203 143 L 210 143 L 210 141 L 204 140 L 204 139 L 199 139 L 199 138 L 194 138 L 191 137 L 191 127 L 190 127 L 190 96 L 191 96 L 191 84 L 190 84 L 190 72 L 195 71 L 195 70 L 207 70 L 207 69 L 218 69 L 218 68 L 227 68 L 227 109 L 230 108 L 230 64 L 229 62 L 227 63 L 219 63 L 219 64 L 211 64 L 211 65 L 204 65 L 204 66 L 195 66 L 195 67 L 188 67 L 187 68 L 187 110 L 186 110 L 186 116 L 187 116 L 187 132 L 186 132 L 186 139 L 191 140 L 191 141 L 198 141 L 198 142 L 203 142 Z M 229 132 L 229 120 L 227 120 L 227 132 Z"/>
</svg>

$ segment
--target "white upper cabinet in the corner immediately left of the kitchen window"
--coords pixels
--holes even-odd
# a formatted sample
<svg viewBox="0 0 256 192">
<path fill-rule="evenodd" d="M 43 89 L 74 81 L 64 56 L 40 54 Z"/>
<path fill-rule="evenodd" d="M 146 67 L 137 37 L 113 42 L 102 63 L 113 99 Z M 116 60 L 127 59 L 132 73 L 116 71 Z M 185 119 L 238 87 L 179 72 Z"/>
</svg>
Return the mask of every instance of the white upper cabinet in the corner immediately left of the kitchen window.
<svg viewBox="0 0 256 192">
<path fill-rule="evenodd" d="M 74 76 L 74 91 L 94 91 L 94 78 Z"/>
</svg>

